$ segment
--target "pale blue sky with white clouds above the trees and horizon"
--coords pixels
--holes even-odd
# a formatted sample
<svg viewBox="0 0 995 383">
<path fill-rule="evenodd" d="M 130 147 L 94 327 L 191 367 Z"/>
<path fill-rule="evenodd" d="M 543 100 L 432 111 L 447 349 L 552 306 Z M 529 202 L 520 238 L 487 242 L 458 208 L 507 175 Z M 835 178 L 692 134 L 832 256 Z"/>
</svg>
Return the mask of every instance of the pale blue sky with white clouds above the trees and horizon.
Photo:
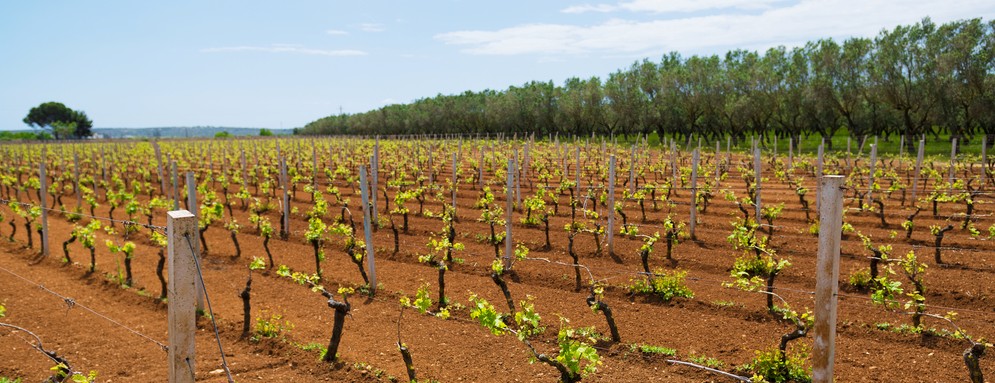
<svg viewBox="0 0 995 383">
<path fill-rule="evenodd" d="M 3 1 L 0 129 L 292 128 L 436 94 L 606 77 L 648 57 L 873 37 L 991 0 Z"/>
</svg>

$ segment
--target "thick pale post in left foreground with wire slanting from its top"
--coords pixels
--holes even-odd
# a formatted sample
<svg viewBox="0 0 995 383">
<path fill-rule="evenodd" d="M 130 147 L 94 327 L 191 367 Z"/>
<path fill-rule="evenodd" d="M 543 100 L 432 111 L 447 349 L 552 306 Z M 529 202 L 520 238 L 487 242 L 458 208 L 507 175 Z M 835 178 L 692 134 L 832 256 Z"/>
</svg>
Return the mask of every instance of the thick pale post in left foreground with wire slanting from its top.
<svg viewBox="0 0 995 383">
<path fill-rule="evenodd" d="M 197 217 L 186 210 L 166 213 L 169 252 L 169 383 L 194 383 L 197 333 L 197 266 L 190 244 L 196 242 Z M 188 244 L 188 242 L 190 244 Z"/>
</svg>

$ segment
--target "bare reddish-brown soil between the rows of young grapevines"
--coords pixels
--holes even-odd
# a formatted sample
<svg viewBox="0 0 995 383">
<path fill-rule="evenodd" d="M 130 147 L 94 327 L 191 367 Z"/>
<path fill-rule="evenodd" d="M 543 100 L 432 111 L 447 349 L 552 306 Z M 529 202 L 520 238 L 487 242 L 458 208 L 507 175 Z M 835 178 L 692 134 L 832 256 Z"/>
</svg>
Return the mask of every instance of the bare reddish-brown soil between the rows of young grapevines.
<svg viewBox="0 0 995 383">
<path fill-rule="evenodd" d="M 799 174 L 801 171 L 799 170 Z M 620 177 L 625 178 L 625 177 Z M 773 178 L 773 177 L 772 177 Z M 808 177 L 811 179 L 811 177 Z M 351 188 L 341 182 L 339 188 L 351 196 Z M 621 182 L 618 192 L 621 194 Z M 777 293 L 792 307 L 802 310 L 812 307 L 814 290 L 815 253 L 817 237 L 808 233 L 810 223 L 805 221 L 797 196 L 784 184 L 769 182 L 764 185 L 765 204 L 784 203 L 785 210 L 776 222 L 773 244 L 781 256 L 791 261 L 791 267 L 777 279 Z M 809 194 L 814 208 L 814 187 Z M 472 206 L 479 190 L 461 186 L 459 191 L 456 224 L 457 241 L 466 250 L 457 256 L 465 263 L 455 265 L 446 274 L 447 295 L 454 303 L 466 305 L 467 297 L 476 293 L 496 307 L 504 307 L 503 297 L 489 278 L 493 249 L 479 238 L 489 228 L 477 222 L 480 211 Z M 500 186 L 497 187 L 500 189 Z M 730 175 L 722 188 L 744 195 L 744 186 Z M 522 187 L 523 198 L 534 192 L 528 184 Z M 726 242 L 730 224 L 739 211 L 724 201 L 716 192 L 707 212 L 700 213 L 697 241 L 684 241 L 674 248 L 674 264 L 663 259 L 665 244 L 657 244 L 650 263 L 670 271 L 688 271 L 688 286 L 694 291 L 692 299 L 662 302 L 653 297 L 630 295 L 625 286 L 639 278 L 641 271 L 638 238 L 615 237 L 615 254 L 595 254 L 593 238 L 588 234 L 577 237 L 576 251 L 580 263 L 590 268 L 594 278 L 608 285 L 605 302 L 615 314 L 622 342 L 599 344 L 602 365 L 585 381 L 590 382 L 703 382 L 734 381 L 703 370 L 668 364 L 665 357 L 645 356 L 630 347 L 633 344 L 665 346 L 677 350 L 675 359 L 701 362 L 706 358 L 718 361 L 717 367 L 736 372 L 749 363 L 756 350 L 776 347 L 780 336 L 792 328 L 775 320 L 767 313 L 765 296 L 723 287 L 730 282 L 729 268 L 738 252 Z M 688 216 L 688 191 L 680 190 L 672 200 L 677 203 L 672 214 L 686 221 Z M 963 205 L 942 204 L 941 218 L 933 218 L 923 211 L 917 218 L 917 229 L 911 241 L 904 240 L 899 226 L 908 209 L 899 206 L 895 198 L 889 199 L 887 218 L 889 226 L 881 228 L 879 218 L 871 212 L 851 212 L 847 222 L 859 231 L 881 243 L 892 243 L 893 256 L 904 255 L 913 246 L 931 246 L 930 224 L 944 222 L 943 216 L 963 211 Z M 503 197 L 498 196 L 500 206 Z M 310 209 L 310 198 L 298 191 L 293 206 L 301 212 Z M 525 227 L 517 222 L 514 239 L 532 249 L 530 256 L 570 263 L 566 252 L 567 236 L 564 225 L 570 221 L 567 197 L 560 197 L 559 214 L 551 219 L 552 249 L 543 251 L 543 232 L 539 228 Z M 851 202 L 851 206 L 853 202 Z M 990 201 L 984 201 L 990 202 Z M 393 205 L 393 203 L 391 203 Z M 417 211 L 417 202 L 409 203 Z M 661 204 L 663 206 L 663 204 Z M 379 208 L 383 210 L 383 201 Z M 426 210 L 438 212 L 440 203 L 432 198 Z M 329 209 L 329 219 L 338 215 L 338 207 Z M 647 207 L 646 223 L 640 222 L 637 206 L 629 203 L 626 212 L 630 222 L 639 225 L 640 233 L 660 230 L 660 221 L 668 209 L 651 211 Z M 984 230 L 992 222 L 988 205 L 980 205 L 982 216 L 977 226 Z M 9 210 L 4 210 L 11 217 Z M 106 216 L 106 208 L 97 215 Z M 118 218 L 122 213 L 117 212 Z M 227 214 L 227 213 L 226 213 Z M 267 213 L 274 223 L 276 212 Z M 237 207 L 235 216 L 244 226 L 248 225 L 248 212 Z M 813 214 L 814 216 L 814 214 Z M 9 219 L 9 218 L 8 218 Z M 397 217 L 400 224 L 400 217 Z M 359 221 L 357 219 L 357 221 Z M 157 225 L 165 224 L 159 217 Z M 393 238 L 389 228 L 374 234 L 377 250 L 377 281 L 380 290 L 375 298 L 351 297 L 351 316 L 346 319 L 340 362 L 322 363 L 313 349 L 327 345 L 332 331 L 333 311 L 321 295 L 294 284 L 275 273 L 253 276 L 253 317 L 281 315 L 289 326 L 274 339 L 261 341 L 241 340 L 242 302 L 239 292 L 245 284 L 247 265 L 253 257 L 265 257 L 262 239 L 253 228 L 245 228 L 238 235 L 242 249 L 241 258 L 233 258 L 234 246 L 228 232 L 220 224 L 207 231 L 209 253 L 204 256 L 204 279 L 213 304 L 214 316 L 220 326 L 221 343 L 228 366 L 235 380 L 270 382 L 376 382 L 406 380 L 404 364 L 395 343 L 398 334 L 398 303 L 401 294 L 411 296 L 424 284 L 429 285 L 432 297 L 437 289 L 437 272 L 434 268 L 418 263 L 417 255 L 424 254 L 432 233 L 442 228 L 438 219 L 412 214 L 411 228 L 400 238 L 400 252 L 391 254 Z M 44 343 L 46 350 L 55 351 L 68 360 L 78 371 L 97 371 L 100 382 L 162 382 L 166 380 L 166 352 L 155 341 L 167 339 L 166 304 L 153 298 L 159 294 L 155 275 L 158 250 L 145 239 L 145 233 L 135 235 L 137 243 L 134 260 L 135 283 L 132 288 L 122 288 L 112 282 L 111 276 L 119 270 L 120 254 L 111 254 L 103 242 L 108 236 L 101 232 L 97 240 L 97 271 L 87 273 L 89 256 L 78 242 L 71 244 L 73 264 L 59 261 L 61 242 L 69 238 L 72 225 L 62 217 L 50 219 L 53 254 L 36 261 L 37 249 L 26 249 L 23 225 L 18 229 L 14 242 L 3 240 L 0 244 L 0 303 L 7 309 L 7 316 L 0 322 L 9 323 L 32 331 Z M 617 223 L 617 227 L 621 222 Z M 303 216 L 292 221 L 289 240 L 274 238 L 270 247 L 278 264 L 293 270 L 314 271 L 313 252 L 305 243 L 303 232 L 307 222 Z M 898 231 L 895 239 L 889 239 Z M 359 233 L 362 233 L 360 229 Z M 0 235 L 10 234 L 5 223 Z M 123 242 L 119 237 L 117 242 Z M 35 246 L 37 247 L 37 237 Z M 932 261 L 932 248 L 917 249 L 920 259 L 928 264 L 924 280 L 927 288 L 928 312 L 946 314 L 956 311 L 957 324 L 975 339 L 995 338 L 992 323 L 995 319 L 995 246 L 991 241 L 972 239 L 965 230 L 956 229 L 947 234 L 943 245 L 958 250 L 944 250 L 949 263 L 938 266 Z M 362 284 L 356 266 L 342 251 L 342 238 L 332 235 L 325 244 L 326 259 L 322 263 L 325 285 L 334 290 L 340 285 Z M 503 249 L 503 246 L 502 246 Z M 967 249 L 967 250 L 964 250 Z M 841 298 L 839 301 L 839 327 L 836 342 L 836 381 L 839 382 L 963 382 L 968 381 L 962 352 L 968 347 L 964 340 L 950 337 L 920 336 L 878 329 L 882 323 L 893 327 L 909 324 L 908 315 L 874 305 L 867 293 L 847 288 L 846 279 L 855 270 L 866 268 L 870 255 L 860 240 L 850 234 L 843 241 L 841 264 Z M 26 278 L 25 281 L 13 274 Z M 573 269 L 541 261 L 521 261 L 515 264 L 509 278 L 511 293 L 516 301 L 526 296 L 534 297 L 535 308 L 548 328 L 541 340 L 535 342 L 540 352 L 555 353 L 556 329 L 560 319 L 569 319 L 570 326 L 594 326 L 608 332 L 604 316 L 593 312 L 585 304 L 587 291 L 574 291 Z M 44 286 L 44 289 L 38 285 Z M 585 277 L 585 286 L 588 284 Z M 49 292 L 71 297 L 75 305 Z M 92 311 L 90 311 L 92 309 Z M 214 339 L 210 321 L 201 319 L 197 334 L 197 380 L 225 382 L 221 358 Z M 927 327 L 951 329 L 943 321 L 927 318 Z M 288 327 L 289 327 L 288 326 Z M 129 330 L 130 329 L 130 330 Z M 132 331 L 133 330 L 133 331 Z M 470 320 L 468 310 L 457 309 L 453 317 L 442 320 L 419 315 L 407 310 L 401 323 L 401 337 L 411 349 L 419 379 L 441 382 L 552 382 L 558 379 L 553 368 L 543 364 L 530 364 L 526 346 L 513 336 L 494 336 Z M 147 338 L 146 338 L 147 337 Z M 47 378 L 53 363 L 31 348 L 34 340 L 22 333 L 0 329 L 0 376 L 23 377 L 25 382 Z M 810 352 L 811 336 L 794 342 L 792 352 Z M 988 379 L 995 376 L 995 358 L 981 361 Z"/>
</svg>

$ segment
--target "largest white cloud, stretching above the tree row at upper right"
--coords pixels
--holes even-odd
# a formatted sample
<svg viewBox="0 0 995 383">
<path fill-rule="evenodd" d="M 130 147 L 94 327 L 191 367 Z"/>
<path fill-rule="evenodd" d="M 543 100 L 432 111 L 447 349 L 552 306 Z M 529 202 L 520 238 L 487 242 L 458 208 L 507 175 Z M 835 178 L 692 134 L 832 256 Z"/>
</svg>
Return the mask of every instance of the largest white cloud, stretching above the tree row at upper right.
<svg viewBox="0 0 995 383">
<path fill-rule="evenodd" d="M 690 3 L 635 0 L 620 3 L 619 6 L 645 12 L 666 12 L 666 9 L 691 9 L 693 5 L 688 5 Z M 730 48 L 791 46 L 825 37 L 873 37 L 881 29 L 915 23 L 927 16 L 936 23 L 995 17 L 995 3 L 990 0 L 802 0 L 789 5 L 780 4 L 778 0 L 766 0 L 759 4 L 767 9 L 747 13 L 741 10 L 755 6 L 747 6 L 743 0 L 705 3 L 734 10 L 657 20 L 612 18 L 595 25 L 526 24 L 489 31 L 454 31 L 438 34 L 435 39 L 461 46 L 465 53 L 481 55 L 657 56 L 668 51 L 721 53 Z"/>
</svg>

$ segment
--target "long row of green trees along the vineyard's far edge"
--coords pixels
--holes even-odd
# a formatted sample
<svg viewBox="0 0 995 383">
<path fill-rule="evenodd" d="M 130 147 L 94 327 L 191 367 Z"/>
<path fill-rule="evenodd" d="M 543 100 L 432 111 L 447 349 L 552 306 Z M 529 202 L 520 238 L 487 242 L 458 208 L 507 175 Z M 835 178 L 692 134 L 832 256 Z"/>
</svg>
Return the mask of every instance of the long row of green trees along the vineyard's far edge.
<svg viewBox="0 0 995 383">
<path fill-rule="evenodd" d="M 764 53 L 672 52 L 602 80 L 532 81 L 338 114 L 301 134 L 643 135 L 708 140 L 995 134 L 995 21 L 929 18 Z M 912 139 L 906 139 L 912 145 Z M 989 140 L 992 142 L 993 140 Z M 831 145 L 831 141 L 828 141 Z"/>
</svg>

